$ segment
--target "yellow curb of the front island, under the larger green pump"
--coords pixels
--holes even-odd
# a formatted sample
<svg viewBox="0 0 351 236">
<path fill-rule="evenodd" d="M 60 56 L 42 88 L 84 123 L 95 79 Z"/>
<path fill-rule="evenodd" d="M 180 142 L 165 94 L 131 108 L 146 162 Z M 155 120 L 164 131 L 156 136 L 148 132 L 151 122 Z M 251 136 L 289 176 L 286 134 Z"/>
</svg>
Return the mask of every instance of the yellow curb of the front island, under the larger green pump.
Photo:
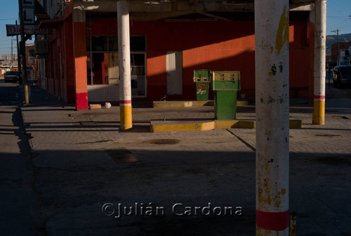
<svg viewBox="0 0 351 236">
<path fill-rule="evenodd" d="M 289 128 L 302 128 L 302 121 L 295 119 L 289 121 Z M 215 120 L 199 123 L 178 122 L 178 124 L 161 121 L 150 122 L 150 131 L 152 133 L 172 131 L 209 131 L 213 129 L 256 129 L 256 122 L 244 120 Z"/>
</svg>

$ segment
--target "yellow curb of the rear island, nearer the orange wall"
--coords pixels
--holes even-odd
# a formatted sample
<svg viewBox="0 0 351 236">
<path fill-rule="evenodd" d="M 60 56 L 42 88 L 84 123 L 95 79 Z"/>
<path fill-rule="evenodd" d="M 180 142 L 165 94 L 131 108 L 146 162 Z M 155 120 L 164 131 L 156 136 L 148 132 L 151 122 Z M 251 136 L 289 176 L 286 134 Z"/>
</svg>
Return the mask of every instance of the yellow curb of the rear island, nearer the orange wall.
<svg viewBox="0 0 351 236">
<path fill-rule="evenodd" d="M 249 105 L 247 100 L 238 100 L 237 106 Z M 201 107 L 214 106 L 213 100 L 208 101 L 154 101 L 152 107 Z"/>
</svg>

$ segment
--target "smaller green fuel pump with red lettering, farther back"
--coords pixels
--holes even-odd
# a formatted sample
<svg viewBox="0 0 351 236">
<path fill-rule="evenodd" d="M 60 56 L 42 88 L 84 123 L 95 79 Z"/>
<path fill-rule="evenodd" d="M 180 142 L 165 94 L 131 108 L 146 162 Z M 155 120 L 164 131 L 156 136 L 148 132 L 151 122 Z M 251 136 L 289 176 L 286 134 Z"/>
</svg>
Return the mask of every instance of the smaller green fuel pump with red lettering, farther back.
<svg viewBox="0 0 351 236">
<path fill-rule="evenodd" d="M 194 70 L 193 79 L 196 84 L 197 101 L 207 101 L 208 89 L 211 82 L 211 70 Z"/>
</svg>

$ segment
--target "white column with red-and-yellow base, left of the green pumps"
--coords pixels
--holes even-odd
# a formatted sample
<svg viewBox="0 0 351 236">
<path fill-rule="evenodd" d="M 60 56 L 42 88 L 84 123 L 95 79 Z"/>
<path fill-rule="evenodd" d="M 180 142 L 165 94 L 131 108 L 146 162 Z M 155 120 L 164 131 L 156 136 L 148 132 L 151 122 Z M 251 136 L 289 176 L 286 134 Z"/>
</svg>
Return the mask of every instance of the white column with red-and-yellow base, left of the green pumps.
<svg viewBox="0 0 351 236">
<path fill-rule="evenodd" d="M 121 129 L 132 128 L 131 112 L 131 46 L 129 36 L 128 1 L 117 1 L 119 53 L 119 107 Z"/>
</svg>

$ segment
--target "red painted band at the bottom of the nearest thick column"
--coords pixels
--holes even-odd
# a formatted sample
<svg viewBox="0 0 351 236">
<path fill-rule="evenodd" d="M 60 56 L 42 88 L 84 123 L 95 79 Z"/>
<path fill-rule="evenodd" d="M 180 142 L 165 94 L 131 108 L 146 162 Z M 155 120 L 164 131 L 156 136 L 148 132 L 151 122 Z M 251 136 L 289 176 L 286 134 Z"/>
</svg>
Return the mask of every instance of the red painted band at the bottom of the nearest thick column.
<svg viewBox="0 0 351 236">
<path fill-rule="evenodd" d="M 289 227 L 289 210 L 283 212 L 256 210 L 256 226 L 263 230 L 285 230 Z"/>
</svg>

